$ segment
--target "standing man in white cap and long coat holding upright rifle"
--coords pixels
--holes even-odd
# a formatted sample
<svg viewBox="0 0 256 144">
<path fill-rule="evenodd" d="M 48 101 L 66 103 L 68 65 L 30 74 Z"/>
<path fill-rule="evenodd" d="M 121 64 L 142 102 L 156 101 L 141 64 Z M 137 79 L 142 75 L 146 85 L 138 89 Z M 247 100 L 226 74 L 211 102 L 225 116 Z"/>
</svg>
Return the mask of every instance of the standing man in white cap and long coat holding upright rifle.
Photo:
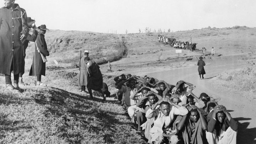
<svg viewBox="0 0 256 144">
<path fill-rule="evenodd" d="M 87 85 L 87 69 L 86 69 L 86 63 L 84 61 L 85 57 L 89 56 L 89 51 L 85 50 L 84 56 L 80 60 L 80 73 L 79 73 L 79 79 L 78 83 L 81 85 L 81 91 L 85 92 L 85 87 Z"/>
</svg>

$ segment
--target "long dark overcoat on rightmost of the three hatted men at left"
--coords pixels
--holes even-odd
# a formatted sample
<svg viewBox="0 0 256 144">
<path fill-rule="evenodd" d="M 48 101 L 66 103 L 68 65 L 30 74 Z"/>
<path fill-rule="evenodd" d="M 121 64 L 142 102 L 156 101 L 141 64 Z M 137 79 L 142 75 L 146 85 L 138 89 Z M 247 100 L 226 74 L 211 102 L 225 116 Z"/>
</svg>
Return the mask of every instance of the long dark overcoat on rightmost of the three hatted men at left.
<svg viewBox="0 0 256 144">
<path fill-rule="evenodd" d="M 30 76 L 34 76 L 34 67 L 35 67 L 35 59 L 36 59 L 36 75 L 43 75 L 45 76 L 45 71 L 46 71 L 46 63 L 43 62 L 43 59 L 41 57 L 41 54 L 37 52 L 37 48 L 40 50 L 40 52 L 43 53 L 44 57 L 46 56 L 49 56 L 49 52 L 47 50 L 47 44 L 46 44 L 46 41 L 45 41 L 45 38 L 44 38 L 44 34 L 41 33 L 41 32 L 38 32 L 38 35 L 37 35 L 37 39 L 36 39 L 36 42 L 35 42 L 35 53 L 34 53 L 34 56 L 33 56 L 33 62 L 32 62 L 32 65 L 31 65 L 31 68 L 30 68 L 30 73 L 29 75 Z M 36 58 L 35 58 L 36 56 Z"/>
</svg>

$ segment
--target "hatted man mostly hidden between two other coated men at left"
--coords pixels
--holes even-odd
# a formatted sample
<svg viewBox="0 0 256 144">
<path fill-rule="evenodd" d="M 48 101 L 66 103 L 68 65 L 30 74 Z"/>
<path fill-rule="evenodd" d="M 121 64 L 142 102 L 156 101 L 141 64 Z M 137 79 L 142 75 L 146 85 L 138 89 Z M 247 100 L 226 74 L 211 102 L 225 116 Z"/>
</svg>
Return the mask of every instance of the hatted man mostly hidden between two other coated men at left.
<svg viewBox="0 0 256 144">
<path fill-rule="evenodd" d="M 23 41 L 23 45 L 22 45 L 22 48 L 23 48 L 23 60 L 24 60 L 23 67 L 24 67 L 24 69 L 25 69 L 26 49 L 28 47 L 28 43 L 29 43 L 29 41 L 35 42 L 36 38 L 37 38 L 37 34 L 38 34 L 38 31 L 36 31 L 36 25 L 34 25 L 35 22 L 36 21 L 32 20 L 31 17 L 27 17 L 28 28 L 32 29 L 32 34 L 28 34 L 27 39 L 25 39 Z M 24 74 L 24 72 L 19 74 L 19 80 L 20 80 L 21 84 L 24 84 L 23 78 L 22 78 L 23 74 Z M 24 85 L 27 85 L 27 84 L 24 84 Z"/>
</svg>

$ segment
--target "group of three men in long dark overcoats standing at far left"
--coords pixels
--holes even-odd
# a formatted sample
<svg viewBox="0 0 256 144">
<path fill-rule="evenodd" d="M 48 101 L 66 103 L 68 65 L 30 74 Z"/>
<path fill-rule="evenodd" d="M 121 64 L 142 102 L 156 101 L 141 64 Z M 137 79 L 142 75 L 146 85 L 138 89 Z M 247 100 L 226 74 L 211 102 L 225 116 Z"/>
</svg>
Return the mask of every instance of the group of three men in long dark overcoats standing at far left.
<svg viewBox="0 0 256 144">
<path fill-rule="evenodd" d="M 23 82 L 25 72 L 26 49 L 29 42 L 34 42 L 34 57 L 30 69 L 30 76 L 35 76 L 35 84 L 45 86 L 41 76 L 45 76 L 46 56 L 49 56 L 44 34 L 48 30 L 46 25 L 36 27 L 35 21 L 27 17 L 15 0 L 4 0 L 4 7 L 0 9 L 0 74 L 5 75 L 6 89 L 23 92 L 19 86 Z M 11 72 L 14 82 L 11 81 Z"/>
</svg>

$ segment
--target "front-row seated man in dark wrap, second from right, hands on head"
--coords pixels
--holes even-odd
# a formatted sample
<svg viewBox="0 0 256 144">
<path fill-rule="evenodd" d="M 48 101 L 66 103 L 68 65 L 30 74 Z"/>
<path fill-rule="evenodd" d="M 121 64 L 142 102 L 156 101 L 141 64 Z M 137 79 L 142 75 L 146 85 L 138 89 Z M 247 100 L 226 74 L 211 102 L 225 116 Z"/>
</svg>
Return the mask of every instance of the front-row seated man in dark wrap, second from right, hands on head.
<svg viewBox="0 0 256 144">
<path fill-rule="evenodd" d="M 205 130 L 207 130 L 204 110 L 199 110 L 196 106 L 188 106 L 190 111 L 183 116 L 177 124 L 177 129 L 182 131 L 184 144 L 208 144 Z"/>
</svg>

